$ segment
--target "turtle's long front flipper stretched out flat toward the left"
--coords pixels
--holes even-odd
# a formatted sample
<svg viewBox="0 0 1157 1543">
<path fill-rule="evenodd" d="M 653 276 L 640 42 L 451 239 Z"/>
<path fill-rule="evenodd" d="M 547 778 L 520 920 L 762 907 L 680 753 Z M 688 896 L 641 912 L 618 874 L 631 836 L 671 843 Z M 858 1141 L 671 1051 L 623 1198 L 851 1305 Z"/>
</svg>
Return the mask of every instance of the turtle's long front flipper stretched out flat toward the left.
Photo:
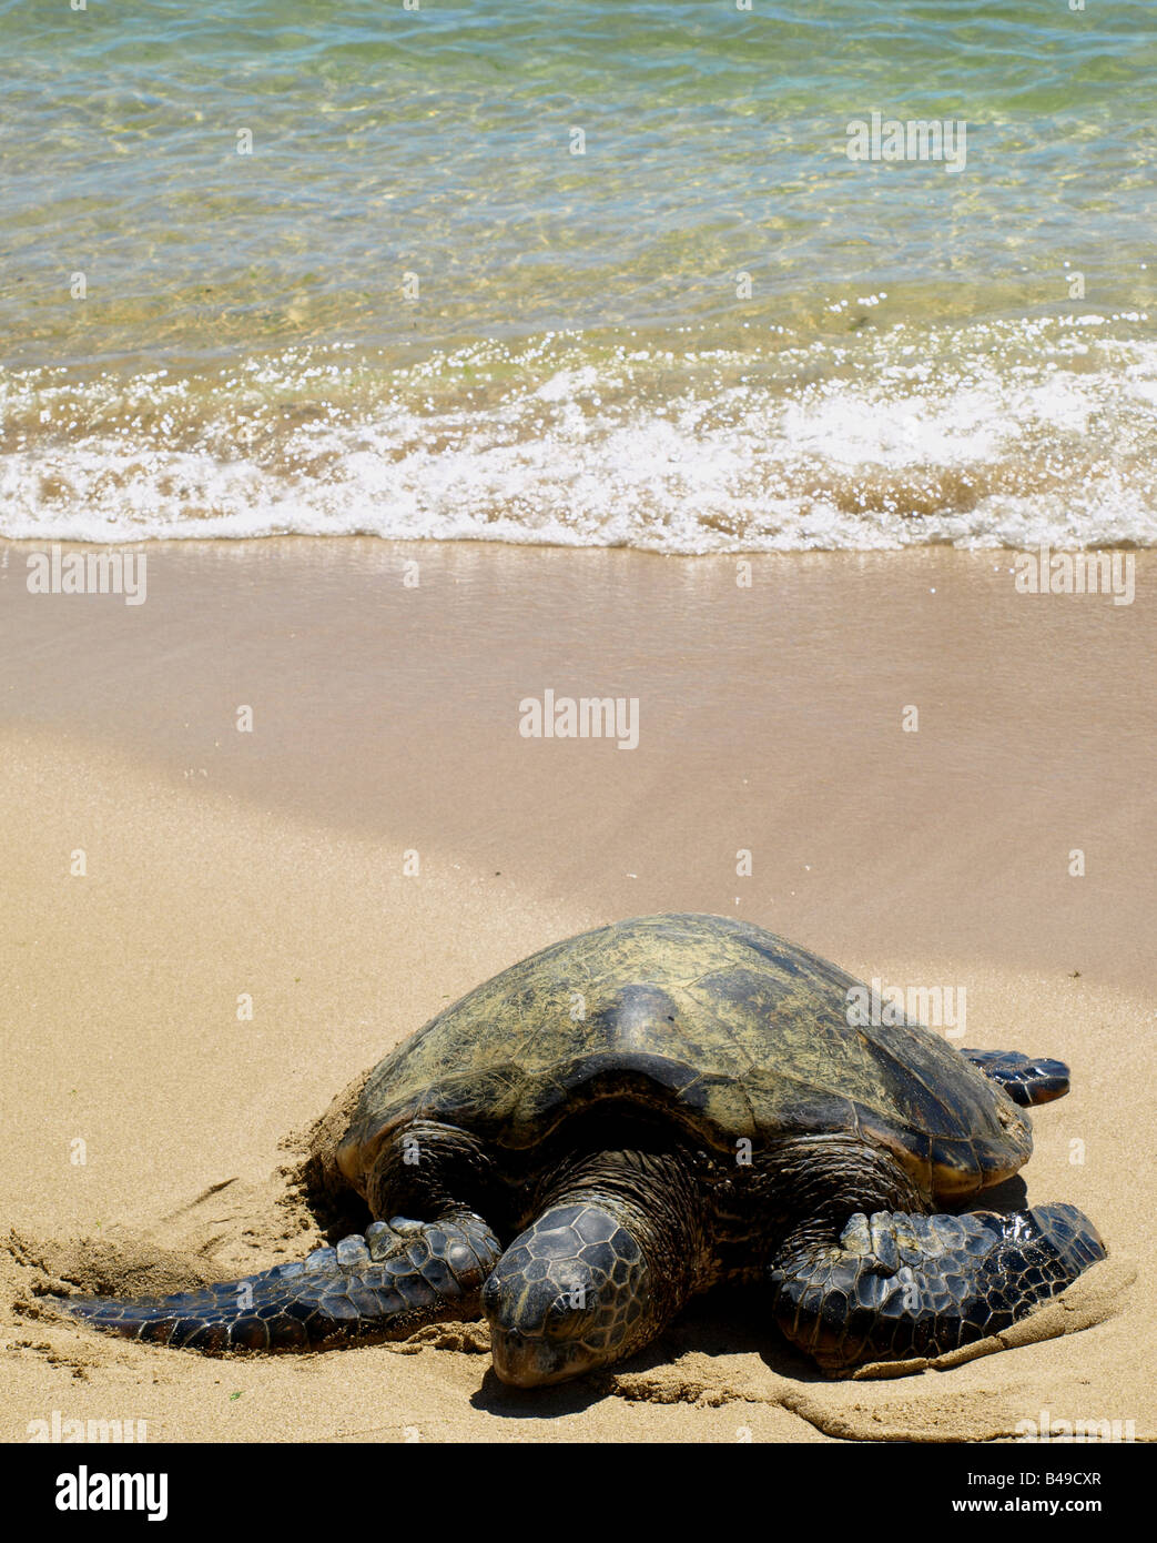
<svg viewBox="0 0 1157 1543">
<path fill-rule="evenodd" d="M 398 1216 L 302 1262 L 199 1291 L 52 1301 L 93 1329 L 176 1349 L 321 1350 L 400 1339 L 444 1318 L 477 1318 L 500 1251 L 486 1222 L 471 1213 L 437 1222 Z"/>
</svg>

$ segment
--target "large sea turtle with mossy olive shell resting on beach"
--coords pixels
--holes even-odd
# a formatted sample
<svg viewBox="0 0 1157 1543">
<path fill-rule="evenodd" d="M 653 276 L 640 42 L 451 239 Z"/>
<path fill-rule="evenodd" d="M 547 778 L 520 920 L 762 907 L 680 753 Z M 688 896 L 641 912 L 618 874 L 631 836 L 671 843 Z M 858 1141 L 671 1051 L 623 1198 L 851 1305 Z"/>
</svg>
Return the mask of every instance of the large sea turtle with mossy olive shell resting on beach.
<svg viewBox="0 0 1157 1543">
<path fill-rule="evenodd" d="M 1068 1069 L 862 1025 L 864 992 L 719 917 L 555 943 L 387 1055 L 318 1151 L 376 1217 L 364 1236 L 180 1296 L 59 1301 L 207 1352 L 484 1313 L 523 1387 L 631 1355 L 725 1279 L 765 1282 L 768 1318 L 830 1373 L 956 1349 L 1105 1256 L 1071 1205 L 944 1214 L 1026 1162 L 1018 1105 L 1060 1097 Z"/>
</svg>

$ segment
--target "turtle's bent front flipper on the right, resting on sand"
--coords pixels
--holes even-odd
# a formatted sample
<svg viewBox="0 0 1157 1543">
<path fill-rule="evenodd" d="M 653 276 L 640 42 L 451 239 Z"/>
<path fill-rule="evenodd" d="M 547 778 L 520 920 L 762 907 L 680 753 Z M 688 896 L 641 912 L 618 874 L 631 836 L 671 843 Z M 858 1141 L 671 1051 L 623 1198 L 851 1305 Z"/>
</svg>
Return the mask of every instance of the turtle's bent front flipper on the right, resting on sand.
<svg viewBox="0 0 1157 1543">
<path fill-rule="evenodd" d="M 862 1211 L 771 1264 L 784 1335 L 824 1370 L 936 1356 L 1000 1333 L 1064 1290 L 1105 1245 L 1075 1205 L 1000 1216 Z"/>
</svg>

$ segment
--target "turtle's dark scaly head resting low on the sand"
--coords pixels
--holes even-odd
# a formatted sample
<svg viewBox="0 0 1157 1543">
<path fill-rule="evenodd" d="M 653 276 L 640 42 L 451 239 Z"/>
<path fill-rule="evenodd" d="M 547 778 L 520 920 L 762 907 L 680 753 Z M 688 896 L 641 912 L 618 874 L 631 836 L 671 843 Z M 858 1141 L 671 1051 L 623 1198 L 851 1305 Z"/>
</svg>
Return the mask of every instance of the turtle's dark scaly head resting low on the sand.
<svg viewBox="0 0 1157 1543">
<path fill-rule="evenodd" d="M 646 1228 L 631 1213 L 612 1196 L 575 1199 L 514 1239 L 483 1287 L 503 1383 L 563 1383 L 653 1338 Z"/>
</svg>

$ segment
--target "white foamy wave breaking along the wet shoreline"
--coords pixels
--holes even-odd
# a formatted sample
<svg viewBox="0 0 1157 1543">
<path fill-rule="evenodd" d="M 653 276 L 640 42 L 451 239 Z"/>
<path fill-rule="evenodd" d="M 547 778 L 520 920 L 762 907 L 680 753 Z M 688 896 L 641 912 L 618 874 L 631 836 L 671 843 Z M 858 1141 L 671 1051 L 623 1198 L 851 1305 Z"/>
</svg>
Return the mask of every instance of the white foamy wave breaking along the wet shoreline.
<svg viewBox="0 0 1157 1543">
<path fill-rule="evenodd" d="M 1157 543 L 1157 343 L 1114 318 L 774 352 L 292 352 L 5 386 L 0 531 L 665 552 Z"/>
</svg>

